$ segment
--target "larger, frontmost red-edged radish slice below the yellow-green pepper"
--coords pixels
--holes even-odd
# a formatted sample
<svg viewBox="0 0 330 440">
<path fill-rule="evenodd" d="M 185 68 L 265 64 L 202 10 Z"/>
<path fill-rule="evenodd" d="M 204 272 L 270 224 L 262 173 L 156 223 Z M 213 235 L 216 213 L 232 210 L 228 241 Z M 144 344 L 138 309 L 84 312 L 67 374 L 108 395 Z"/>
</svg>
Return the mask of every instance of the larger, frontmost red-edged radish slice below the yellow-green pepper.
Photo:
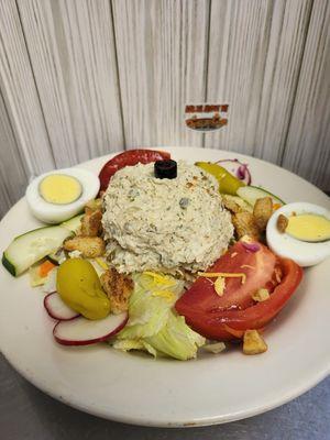
<svg viewBox="0 0 330 440">
<path fill-rule="evenodd" d="M 107 341 L 125 326 L 128 319 L 127 311 L 97 320 L 78 317 L 72 321 L 57 322 L 53 336 L 63 345 L 89 345 Z"/>
</svg>

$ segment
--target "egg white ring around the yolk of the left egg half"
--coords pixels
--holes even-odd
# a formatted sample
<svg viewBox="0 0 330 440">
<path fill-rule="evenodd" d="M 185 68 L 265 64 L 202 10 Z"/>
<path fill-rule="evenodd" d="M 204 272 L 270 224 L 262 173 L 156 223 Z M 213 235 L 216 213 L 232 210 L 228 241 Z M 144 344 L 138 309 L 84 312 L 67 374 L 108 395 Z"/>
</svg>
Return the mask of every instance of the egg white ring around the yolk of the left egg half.
<svg viewBox="0 0 330 440">
<path fill-rule="evenodd" d="M 67 176 L 75 177 L 81 185 L 80 197 L 66 205 L 55 205 L 46 201 L 38 191 L 40 183 L 52 174 L 65 174 Z M 59 223 L 68 220 L 77 213 L 81 212 L 84 206 L 91 199 L 94 199 L 100 189 L 100 182 L 98 176 L 94 173 L 81 168 L 65 168 L 54 169 L 53 172 L 42 174 L 36 177 L 26 188 L 26 200 L 28 205 L 38 220 L 45 223 Z"/>
</svg>

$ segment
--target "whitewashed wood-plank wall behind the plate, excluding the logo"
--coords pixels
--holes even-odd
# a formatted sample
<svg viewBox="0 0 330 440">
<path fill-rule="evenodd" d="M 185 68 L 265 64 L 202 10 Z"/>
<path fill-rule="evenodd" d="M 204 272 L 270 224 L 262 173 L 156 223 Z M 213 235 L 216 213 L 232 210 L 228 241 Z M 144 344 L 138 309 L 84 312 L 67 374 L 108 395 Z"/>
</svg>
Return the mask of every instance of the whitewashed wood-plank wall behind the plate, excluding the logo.
<svg viewBox="0 0 330 440">
<path fill-rule="evenodd" d="M 30 176 L 134 146 L 237 151 L 330 190 L 330 1 L 0 0 L 0 217 Z M 229 102 L 198 133 L 186 103 Z"/>
</svg>

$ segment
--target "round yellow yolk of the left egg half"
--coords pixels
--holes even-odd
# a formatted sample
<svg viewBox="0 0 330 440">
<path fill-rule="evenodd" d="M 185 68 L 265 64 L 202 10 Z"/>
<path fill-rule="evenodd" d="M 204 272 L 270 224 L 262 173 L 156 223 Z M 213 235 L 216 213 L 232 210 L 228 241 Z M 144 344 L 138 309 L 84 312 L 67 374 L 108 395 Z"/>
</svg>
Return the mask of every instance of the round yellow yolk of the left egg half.
<svg viewBox="0 0 330 440">
<path fill-rule="evenodd" d="M 73 176 L 51 174 L 40 183 L 38 191 L 50 204 L 67 205 L 80 197 L 82 188 L 80 182 Z"/>
</svg>

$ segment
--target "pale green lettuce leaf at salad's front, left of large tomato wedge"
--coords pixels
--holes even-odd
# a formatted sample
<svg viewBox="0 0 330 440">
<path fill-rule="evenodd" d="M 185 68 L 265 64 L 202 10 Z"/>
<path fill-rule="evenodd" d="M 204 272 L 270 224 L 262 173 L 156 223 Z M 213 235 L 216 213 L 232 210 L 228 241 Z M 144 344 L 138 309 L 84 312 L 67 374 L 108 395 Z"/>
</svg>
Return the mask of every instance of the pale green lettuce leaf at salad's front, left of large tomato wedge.
<svg viewBox="0 0 330 440">
<path fill-rule="evenodd" d="M 113 346 L 123 351 L 144 350 L 154 356 L 195 358 L 205 339 L 186 324 L 184 317 L 173 311 L 184 282 L 151 272 L 136 274 L 133 280 L 130 319 L 118 333 Z"/>
</svg>

